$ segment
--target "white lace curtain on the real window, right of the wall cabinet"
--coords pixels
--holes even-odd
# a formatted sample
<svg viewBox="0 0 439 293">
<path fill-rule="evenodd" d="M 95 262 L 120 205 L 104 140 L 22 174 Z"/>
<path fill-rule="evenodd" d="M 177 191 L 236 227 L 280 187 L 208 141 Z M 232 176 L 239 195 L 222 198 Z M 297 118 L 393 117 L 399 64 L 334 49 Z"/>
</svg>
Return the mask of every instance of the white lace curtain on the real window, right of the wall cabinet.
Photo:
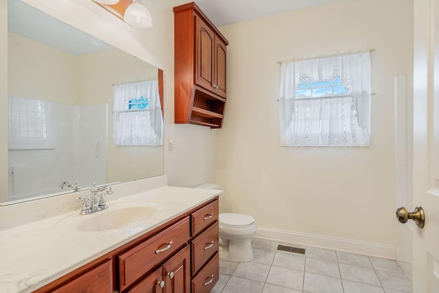
<svg viewBox="0 0 439 293">
<path fill-rule="evenodd" d="M 305 80 L 305 81 L 304 81 Z M 308 82 L 309 80 L 309 82 Z M 339 80 L 344 93 L 313 96 L 305 83 Z M 335 89 L 335 88 L 334 88 Z M 279 97 L 281 146 L 368 146 L 370 53 L 283 62 Z"/>
</svg>

